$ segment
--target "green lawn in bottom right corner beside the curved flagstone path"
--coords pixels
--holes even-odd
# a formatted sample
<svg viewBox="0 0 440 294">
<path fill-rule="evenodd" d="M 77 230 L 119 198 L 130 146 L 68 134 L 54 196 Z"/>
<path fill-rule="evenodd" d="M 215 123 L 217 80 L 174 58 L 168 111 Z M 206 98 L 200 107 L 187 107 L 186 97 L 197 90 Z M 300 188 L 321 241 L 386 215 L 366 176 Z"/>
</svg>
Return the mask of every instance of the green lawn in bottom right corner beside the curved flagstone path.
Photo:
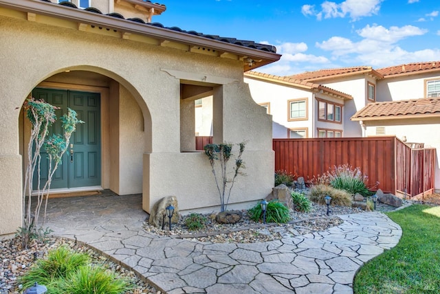
<svg viewBox="0 0 440 294">
<path fill-rule="evenodd" d="M 440 207 L 411 205 L 387 215 L 401 226 L 399 244 L 366 262 L 354 293 L 440 292 Z"/>
</svg>

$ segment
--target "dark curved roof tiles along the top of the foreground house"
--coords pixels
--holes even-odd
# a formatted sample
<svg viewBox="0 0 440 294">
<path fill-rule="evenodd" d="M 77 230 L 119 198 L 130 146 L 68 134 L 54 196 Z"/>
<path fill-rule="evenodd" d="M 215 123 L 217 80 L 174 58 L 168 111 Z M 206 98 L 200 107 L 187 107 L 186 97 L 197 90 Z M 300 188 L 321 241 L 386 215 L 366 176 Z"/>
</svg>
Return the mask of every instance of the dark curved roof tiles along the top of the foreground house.
<svg viewBox="0 0 440 294">
<path fill-rule="evenodd" d="M 51 2 L 50 0 L 41 0 L 41 1 Z M 129 0 L 129 1 L 135 3 L 137 0 Z M 139 1 L 142 2 L 142 0 L 139 0 Z M 151 3 L 151 1 L 148 1 L 148 0 L 146 0 L 146 1 L 144 0 L 144 2 Z M 81 9 L 81 8 L 76 7 L 76 5 L 74 3 L 69 2 L 69 1 L 63 1 L 63 2 L 60 2 L 58 4 L 59 5 L 69 6 L 70 8 Z M 154 3 L 153 5 L 162 6 L 164 9 L 166 8 L 166 6 L 164 4 Z M 83 10 L 87 10 L 89 12 L 95 12 L 95 13 L 101 14 L 100 10 L 98 10 L 97 8 L 93 8 L 93 7 L 85 8 Z M 124 19 L 124 16 L 122 16 L 121 14 L 118 14 L 118 13 L 111 13 L 111 14 L 108 14 L 108 15 L 109 16 L 113 16 L 113 17 L 118 17 L 120 19 Z M 139 19 L 139 18 L 126 19 L 126 20 L 127 21 L 135 21 L 137 23 L 143 23 L 145 25 L 153 25 L 153 26 L 156 26 L 156 27 L 163 27 L 164 29 L 168 29 L 168 30 L 182 32 L 182 33 L 191 34 L 191 35 L 195 35 L 195 36 L 201 36 L 203 38 L 210 38 L 212 40 L 222 41 L 222 42 L 225 42 L 225 43 L 232 43 L 232 44 L 235 44 L 235 45 L 240 45 L 240 46 L 243 46 L 243 47 L 257 49 L 257 50 L 261 50 L 261 51 L 265 51 L 265 52 L 276 53 L 276 47 L 275 46 L 266 45 L 266 44 L 259 44 L 259 43 L 255 43 L 254 41 L 237 40 L 236 38 L 228 38 L 228 37 L 224 37 L 224 36 L 217 36 L 217 35 L 211 35 L 211 34 L 203 34 L 203 33 L 195 32 L 195 31 L 186 31 L 186 30 L 182 30 L 180 27 L 166 27 L 166 26 L 162 25 L 162 23 L 145 23 L 142 19 Z"/>
</svg>

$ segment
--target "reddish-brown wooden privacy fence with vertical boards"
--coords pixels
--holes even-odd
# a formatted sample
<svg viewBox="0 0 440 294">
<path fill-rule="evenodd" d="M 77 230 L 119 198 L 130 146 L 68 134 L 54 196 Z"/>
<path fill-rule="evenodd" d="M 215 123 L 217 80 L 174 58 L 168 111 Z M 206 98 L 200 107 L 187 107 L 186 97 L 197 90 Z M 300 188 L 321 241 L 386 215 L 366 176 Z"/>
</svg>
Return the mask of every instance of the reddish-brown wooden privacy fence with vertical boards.
<svg viewBox="0 0 440 294">
<path fill-rule="evenodd" d="M 275 170 L 306 181 L 348 163 L 368 176 L 369 188 L 409 196 L 434 189 L 435 149 L 412 149 L 396 137 L 273 139 L 273 148 Z"/>
</svg>

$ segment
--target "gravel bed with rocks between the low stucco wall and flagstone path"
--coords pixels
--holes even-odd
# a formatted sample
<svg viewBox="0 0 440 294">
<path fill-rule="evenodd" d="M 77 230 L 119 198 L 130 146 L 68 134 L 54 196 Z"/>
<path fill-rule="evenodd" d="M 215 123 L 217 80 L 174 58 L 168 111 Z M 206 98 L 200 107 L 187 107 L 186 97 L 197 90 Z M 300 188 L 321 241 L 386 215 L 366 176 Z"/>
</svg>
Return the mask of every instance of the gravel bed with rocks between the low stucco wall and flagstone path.
<svg viewBox="0 0 440 294">
<path fill-rule="evenodd" d="M 327 206 L 311 203 L 311 212 L 290 211 L 292 220 L 286 224 L 270 223 L 263 225 L 250 220 L 246 211 L 243 210 L 243 220 L 235 224 L 220 224 L 215 220 L 216 213 L 203 214 L 206 218 L 206 227 L 197 231 L 190 231 L 185 225 L 183 216 L 179 223 L 173 224 L 171 231 L 168 227 L 157 228 L 144 223 L 144 229 L 150 233 L 160 236 L 171 236 L 173 238 L 184 238 L 204 243 L 254 243 L 279 240 L 289 236 L 298 236 L 324 231 L 329 227 L 340 225 L 342 220 L 337 215 L 355 214 L 364 212 L 359 208 L 331 206 L 331 214 L 327 216 Z"/>
</svg>

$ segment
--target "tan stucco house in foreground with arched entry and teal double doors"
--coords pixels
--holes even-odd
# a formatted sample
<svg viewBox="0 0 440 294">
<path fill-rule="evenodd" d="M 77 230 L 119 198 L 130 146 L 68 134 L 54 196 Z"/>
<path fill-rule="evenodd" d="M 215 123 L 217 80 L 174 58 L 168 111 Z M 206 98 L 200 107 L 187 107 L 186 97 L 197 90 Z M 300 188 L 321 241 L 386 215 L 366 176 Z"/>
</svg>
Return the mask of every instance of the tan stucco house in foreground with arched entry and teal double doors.
<svg viewBox="0 0 440 294">
<path fill-rule="evenodd" d="M 182 211 L 217 209 L 208 159 L 194 152 L 195 100 L 212 95 L 214 142 L 248 142 L 247 176 L 231 207 L 271 192 L 271 117 L 243 71 L 280 55 L 271 45 L 146 23 L 164 10 L 142 0 L 0 0 L 0 235 L 21 226 L 30 130 L 21 106 L 30 95 L 85 121 L 52 182 L 58 191 L 142 193 L 146 212 L 170 195 Z"/>
</svg>

